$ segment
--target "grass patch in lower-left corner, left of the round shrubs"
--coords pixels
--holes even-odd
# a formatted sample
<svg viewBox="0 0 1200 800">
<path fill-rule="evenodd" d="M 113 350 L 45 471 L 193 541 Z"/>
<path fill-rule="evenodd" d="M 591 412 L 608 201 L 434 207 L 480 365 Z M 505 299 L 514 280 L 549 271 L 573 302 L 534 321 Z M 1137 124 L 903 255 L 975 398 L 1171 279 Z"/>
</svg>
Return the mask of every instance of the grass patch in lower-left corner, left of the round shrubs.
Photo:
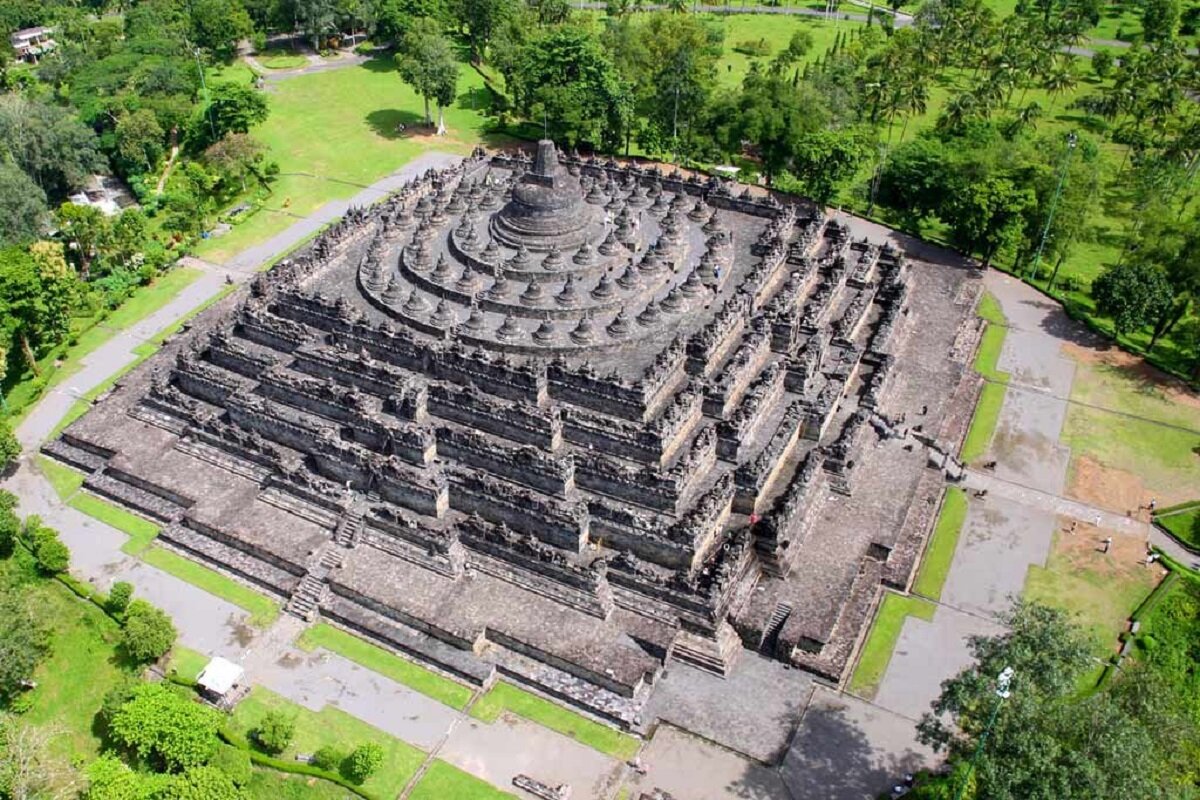
<svg viewBox="0 0 1200 800">
<path fill-rule="evenodd" d="M 34 673 L 37 688 L 26 696 L 30 708 L 22 718 L 53 730 L 52 753 L 79 765 L 100 753 L 92 721 L 104 693 L 133 673 L 118 655 L 116 622 L 59 582 L 32 577 L 28 559 L 18 552 L 0 561 L 0 590 L 30 597 L 50 627 L 50 655 Z M 65 796 L 67 787 L 60 788 Z"/>
</svg>

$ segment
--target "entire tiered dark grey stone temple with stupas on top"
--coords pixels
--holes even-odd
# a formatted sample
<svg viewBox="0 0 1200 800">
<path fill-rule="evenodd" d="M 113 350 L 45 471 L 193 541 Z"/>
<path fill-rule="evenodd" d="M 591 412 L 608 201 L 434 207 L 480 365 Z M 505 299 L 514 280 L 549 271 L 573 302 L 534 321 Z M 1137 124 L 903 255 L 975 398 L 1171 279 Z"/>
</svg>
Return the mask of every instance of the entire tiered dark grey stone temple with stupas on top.
<svg viewBox="0 0 1200 800">
<path fill-rule="evenodd" d="M 46 451 L 298 615 L 635 726 L 672 661 L 842 678 L 970 410 L 971 284 L 716 179 L 478 152 Z"/>
</svg>

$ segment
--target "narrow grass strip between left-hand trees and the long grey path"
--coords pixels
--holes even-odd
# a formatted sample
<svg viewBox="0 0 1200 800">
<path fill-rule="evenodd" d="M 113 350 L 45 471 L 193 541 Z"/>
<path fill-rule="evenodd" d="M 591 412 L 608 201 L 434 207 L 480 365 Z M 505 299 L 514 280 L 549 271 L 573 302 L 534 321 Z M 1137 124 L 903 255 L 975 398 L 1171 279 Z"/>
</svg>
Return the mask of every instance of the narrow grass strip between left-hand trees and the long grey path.
<svg viewBox="0 0 1200 800">
<path fill-rule="evenodd" d="M 192 267 L 175 267 L 166 275 L 158 276 L 154 283 L 139 288 L 133 295 L 116 308 L 107 319 L 84 323 L 85 329 L 78 331 L 78 338 L 72 347 L 55 348 L 42 359 L 42 374 L 49 373 L 46 386 L 38 389 L 35 385 L 31 373 L 24 373 L 19 380 L 5 387 L 5 399 L 12 410 L 12 425 L 16 427 L 24 419 L 25 414 L 34 407 L 34 403 L 42 393 L 78 372 L 84 356 L 95 351 L 98 347 L 108 342 L 119 331 L 145 319 L 174 300 L 186 285 L 200 277 L 200 270 Z M 61 366 L 55 368 L 55 362 Z"/>
</svg>

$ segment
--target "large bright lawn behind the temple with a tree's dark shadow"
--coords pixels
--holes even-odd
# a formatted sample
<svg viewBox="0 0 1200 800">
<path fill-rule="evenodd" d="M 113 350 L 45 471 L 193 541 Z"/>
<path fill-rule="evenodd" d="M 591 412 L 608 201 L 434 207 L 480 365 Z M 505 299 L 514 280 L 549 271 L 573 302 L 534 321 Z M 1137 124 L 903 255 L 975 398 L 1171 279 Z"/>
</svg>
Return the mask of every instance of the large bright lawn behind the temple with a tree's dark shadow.
<svg viewBox="0 0 1200 800">
<path fill-rule="evenodd" d="M 197 247 L 226 261 L 265 241 L 329 200 L 348 198 L 422 152 L 466 155 L 486 133 L 488 95 L 484 79 L 463 65 L 458 98 L 446 109 L 445 137 L 426 136 L 416 124 L 424 103 L 396 74 L 391 59 L 299 76 L 272 84 L 271 114 L 252 133 L 280 166 L 266 210 Z M 397 124 L 408 131 L 397 133 Z"/>
</svg>

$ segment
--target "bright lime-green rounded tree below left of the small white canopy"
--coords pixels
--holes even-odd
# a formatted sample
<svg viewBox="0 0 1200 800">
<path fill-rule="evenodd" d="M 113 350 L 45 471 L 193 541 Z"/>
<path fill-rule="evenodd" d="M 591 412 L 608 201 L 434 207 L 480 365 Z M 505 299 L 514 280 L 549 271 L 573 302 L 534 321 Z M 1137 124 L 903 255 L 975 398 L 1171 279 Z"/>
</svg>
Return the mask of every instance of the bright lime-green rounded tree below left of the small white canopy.
<svg viewBox="0 0 1200 800">
<path fill-rule="evenodd" d="M 113 712 L 108 734 L 155 769 L 178 772 L 212 758 L 220 727 L 217 710 L 180 694 L 169 684 L 139 684 Z"/>
</svg>

